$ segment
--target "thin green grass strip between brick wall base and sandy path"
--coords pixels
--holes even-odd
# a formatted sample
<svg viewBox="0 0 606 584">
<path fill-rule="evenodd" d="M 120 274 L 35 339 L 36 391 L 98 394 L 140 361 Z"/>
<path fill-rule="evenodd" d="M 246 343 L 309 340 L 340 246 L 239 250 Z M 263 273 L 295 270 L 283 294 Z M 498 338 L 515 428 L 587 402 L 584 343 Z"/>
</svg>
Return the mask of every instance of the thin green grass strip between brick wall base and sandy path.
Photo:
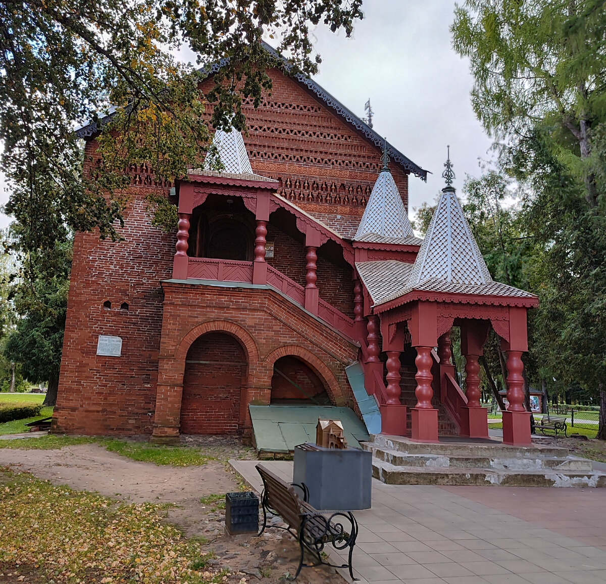
<svg viewBox="0 0 606 584">
<path fill-rule="evenodd" d="M 215 457 L 205 455 L 195 446 L 160 446 L 145 441 L 119 440 L 94 436 L 62 436 L 48 434 L 40 438 L 0 440 L 0 448 L 53 450 L 63 446 L 98 444 L 110 452 L 117 452 L 132 460 L 151 462 L 155 465 L 201 466 Z"/>
</svg>

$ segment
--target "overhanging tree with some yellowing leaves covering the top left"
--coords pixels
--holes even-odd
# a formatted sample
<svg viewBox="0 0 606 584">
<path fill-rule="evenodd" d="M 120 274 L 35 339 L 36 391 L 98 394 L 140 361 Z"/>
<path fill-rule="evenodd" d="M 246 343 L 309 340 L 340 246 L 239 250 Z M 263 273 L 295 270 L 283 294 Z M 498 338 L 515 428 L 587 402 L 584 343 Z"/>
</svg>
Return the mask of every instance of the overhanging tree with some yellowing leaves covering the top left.
<svg viewBox="0 0 606 584">
<path fill-rule="evenodd" d="M 20 228 L 13 249 L 52 250 L 71 230 L 117 239 L 124 169 L 150 163 L 173 181 L 199 166 L 204 110 L 216 127 L 243 129 L 242 98 L 256 106 L 270 92 L 268 67 L 315 73 L 311 27 L 351 35 L 361 1 L 0 0 L 0 169 Z M 264 49 L 264 34 L 279 39 L 288 65 Z M 175 59 L 182 44 L 199 69 Z M 102 130 L 101 160 L 83 175 L 73 130 L 87 121 Z"/>
</svg>

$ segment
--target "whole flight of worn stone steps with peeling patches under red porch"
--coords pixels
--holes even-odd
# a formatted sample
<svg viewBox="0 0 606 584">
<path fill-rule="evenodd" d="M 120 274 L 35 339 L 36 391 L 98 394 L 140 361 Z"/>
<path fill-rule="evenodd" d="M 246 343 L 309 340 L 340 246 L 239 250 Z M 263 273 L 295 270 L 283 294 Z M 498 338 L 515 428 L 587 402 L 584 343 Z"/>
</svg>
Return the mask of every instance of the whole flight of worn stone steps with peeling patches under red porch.
<svg viewBox="0 0 606 584">
<path fill-rule="evenodd" d="M 373 476 L 390 485 L 606 487 L 591 460 L 555 446 L 508 446 L 496 440 L 413 442 L 373 434 Z"/>
</svg>

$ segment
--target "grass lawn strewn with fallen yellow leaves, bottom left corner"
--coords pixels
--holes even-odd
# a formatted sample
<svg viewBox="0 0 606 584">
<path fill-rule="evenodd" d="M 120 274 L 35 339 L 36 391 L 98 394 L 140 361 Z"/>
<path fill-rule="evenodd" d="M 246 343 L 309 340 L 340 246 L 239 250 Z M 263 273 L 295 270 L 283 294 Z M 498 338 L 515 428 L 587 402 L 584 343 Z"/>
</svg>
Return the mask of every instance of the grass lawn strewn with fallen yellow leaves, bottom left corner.
<svg viewBox="0 0 606 584">
<path fill-rule="evenodd" d="M 125 505 L 0 468 L 0 572 L 39 584 L 224 582 L 199 540 L 163 517 L 160 505 Z"/>
</svg>

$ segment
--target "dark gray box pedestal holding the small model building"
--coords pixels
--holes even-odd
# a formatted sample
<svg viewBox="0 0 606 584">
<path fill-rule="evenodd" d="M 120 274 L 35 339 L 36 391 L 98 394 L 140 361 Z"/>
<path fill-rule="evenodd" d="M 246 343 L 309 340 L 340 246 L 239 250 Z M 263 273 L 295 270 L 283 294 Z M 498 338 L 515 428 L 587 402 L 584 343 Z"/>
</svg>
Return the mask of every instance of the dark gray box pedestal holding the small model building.
<svg viewBox="0 0 606 584">
<path fill-rule="evenodd" d="M 305 483 L 318 510 L 370 509 L 372 454 L 359 448 L 295 446 L 293 483 Z"/>
</svg>

